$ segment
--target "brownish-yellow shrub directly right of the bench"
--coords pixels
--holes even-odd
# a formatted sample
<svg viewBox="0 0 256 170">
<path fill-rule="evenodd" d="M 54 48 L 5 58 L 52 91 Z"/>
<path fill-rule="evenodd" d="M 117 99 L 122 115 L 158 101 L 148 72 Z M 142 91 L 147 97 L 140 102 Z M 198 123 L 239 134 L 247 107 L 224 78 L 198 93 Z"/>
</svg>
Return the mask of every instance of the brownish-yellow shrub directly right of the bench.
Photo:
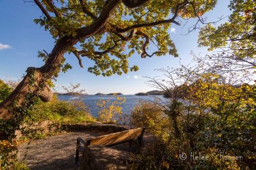
<svg viewBox="0 0 256 170">
<path fill-rule="evenodd" d="M 189 148 L 196 139 L 198 131 L 195 129 L 204 126 L 204 117 L 184 114 L 187 108 L 175 100 L 166 110 L 157 102 L 143 102 L 132 111 L 131 123 L 136 127 L 145 127 L 147 132 L 156 135 L 159 139 L 150 153 L 144 153 L 138 157 L 139 161 L 132 165 L 131 169 L 167 169 L 166 167 L 189 167 L 189 162 L 180 160 L 179 154 L 189 152 Z M 175 108 L 175 109 L 174 109 Z M 175 121 L 172 111 L 175 110 Z M 179 130 L 177 137 L 176 130 Z M 135 168 L 136 169 L 136 168 Z"/>
</svg>

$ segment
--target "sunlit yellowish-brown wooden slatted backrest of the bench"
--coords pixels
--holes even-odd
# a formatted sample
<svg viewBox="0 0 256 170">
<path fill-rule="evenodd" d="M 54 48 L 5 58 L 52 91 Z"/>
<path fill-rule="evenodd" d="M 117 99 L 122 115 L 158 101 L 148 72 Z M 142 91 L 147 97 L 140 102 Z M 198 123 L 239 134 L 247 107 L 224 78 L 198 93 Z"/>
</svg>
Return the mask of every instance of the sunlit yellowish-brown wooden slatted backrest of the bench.
<svg viewBox="0 0 256 170">
<path fill-rule="evenodd" d="M 86 145 L 91 144 L 102 146 L 113 146 L 118 143 L 124 143 L 141 137 L 145 128 L 132 128 L 130 130 L 124 130 L 122 132 L 116 132 L 108 135 L 100 135 L 99 137 L 92 137 L 86 139 Z"/>
</svg>

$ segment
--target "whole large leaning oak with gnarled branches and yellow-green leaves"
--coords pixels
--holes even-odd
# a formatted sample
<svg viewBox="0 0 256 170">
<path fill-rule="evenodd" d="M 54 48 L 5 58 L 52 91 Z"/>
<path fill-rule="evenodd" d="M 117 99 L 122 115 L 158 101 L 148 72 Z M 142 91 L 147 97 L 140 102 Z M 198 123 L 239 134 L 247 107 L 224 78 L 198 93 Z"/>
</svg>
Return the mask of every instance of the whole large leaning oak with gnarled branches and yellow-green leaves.
<svg viewBox="0 0 256 170">
<path fill-rule="evenodd" d="M 95 65 L 88 72 L 110 76 L 136 71 L 128 58 L 138 52 L 141 58 L 170 54 L 177 50 L 170 37 L 170 26 L 214 8 L 216 0 L 34 0 L 43 16 L 35 19 L 56 41 L 51 52 L 38 52 L 45 64 L 29 67 L 20 84 L 0 104 L 0 118 L 22 112 L 35 97 L 47 102 L 52 93 L 47 81 L 71 66 L 65 54 L 72 53 L 83 67 L 81 57 Z M 148 52 L 149 44 L 156 51 Z"/>
</svg>

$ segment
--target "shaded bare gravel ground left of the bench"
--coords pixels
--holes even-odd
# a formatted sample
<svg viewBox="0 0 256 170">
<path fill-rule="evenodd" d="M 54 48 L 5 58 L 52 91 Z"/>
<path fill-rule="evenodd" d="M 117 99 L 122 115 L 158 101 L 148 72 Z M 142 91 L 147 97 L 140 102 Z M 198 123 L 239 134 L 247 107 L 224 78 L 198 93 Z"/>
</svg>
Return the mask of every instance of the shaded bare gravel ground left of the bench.
<svg viewBox="0 0 256 170">
<path fill-rule="evenodd" d="M 62 135 L 31 141 L 19 146 L 19 160 L 24 160 L 33 169 L 77 169 L 75 163 L 76 139 L 96 136 L 83 132 L 70 132 Z"/>
</svg>

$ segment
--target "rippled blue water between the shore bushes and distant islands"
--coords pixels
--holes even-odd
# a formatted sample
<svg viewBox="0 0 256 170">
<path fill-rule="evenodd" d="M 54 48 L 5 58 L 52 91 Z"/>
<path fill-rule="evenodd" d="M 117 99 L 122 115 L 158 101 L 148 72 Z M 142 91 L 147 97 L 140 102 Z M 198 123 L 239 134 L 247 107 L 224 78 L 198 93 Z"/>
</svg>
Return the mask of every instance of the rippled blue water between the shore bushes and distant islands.
<svg viewBox="0 0 256 170">
<path fill-rule="evenodd" d="M 120 97 L 125 97 L 126 102 L 122 104 L 123 113 L 126 115 L 131 114 L 132 109 L 138 104 L 140 101 L 154 100 L 154 98 L 163 98 L 163 96 L 135 96 L 135 95 L 121 95 Z M 58 95 L 60 100 L 72 100 L 74 97 L 70 95 Z M 99 108 L 97 107 L 97 101 L 100 99 L 109 100 L 113 102 L 116 97 L 108 96 L 108 95 L 86 95 L 79 97 L 84 102 L 85 105 L 88 106 L 91 114 L 93 116 L 98 116 Z"/>
</svg>

